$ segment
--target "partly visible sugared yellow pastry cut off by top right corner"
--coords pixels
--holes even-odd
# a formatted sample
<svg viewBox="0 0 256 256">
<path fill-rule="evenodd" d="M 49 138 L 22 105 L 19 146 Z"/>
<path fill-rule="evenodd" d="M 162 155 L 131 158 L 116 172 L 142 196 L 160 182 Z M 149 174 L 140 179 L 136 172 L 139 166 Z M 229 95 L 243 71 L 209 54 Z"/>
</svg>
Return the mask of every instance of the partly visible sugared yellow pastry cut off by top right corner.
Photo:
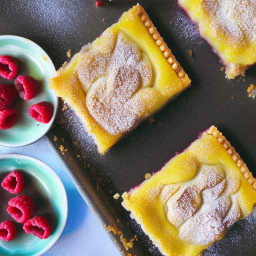
<svg viewBox="0 0 256 256">
<path fill-rule="evenodd" d="M 256 62 L 254 0 L 178 0 L 178 3 L 220 57 L 228 79 L 244 75 Z"/>
</svg>

